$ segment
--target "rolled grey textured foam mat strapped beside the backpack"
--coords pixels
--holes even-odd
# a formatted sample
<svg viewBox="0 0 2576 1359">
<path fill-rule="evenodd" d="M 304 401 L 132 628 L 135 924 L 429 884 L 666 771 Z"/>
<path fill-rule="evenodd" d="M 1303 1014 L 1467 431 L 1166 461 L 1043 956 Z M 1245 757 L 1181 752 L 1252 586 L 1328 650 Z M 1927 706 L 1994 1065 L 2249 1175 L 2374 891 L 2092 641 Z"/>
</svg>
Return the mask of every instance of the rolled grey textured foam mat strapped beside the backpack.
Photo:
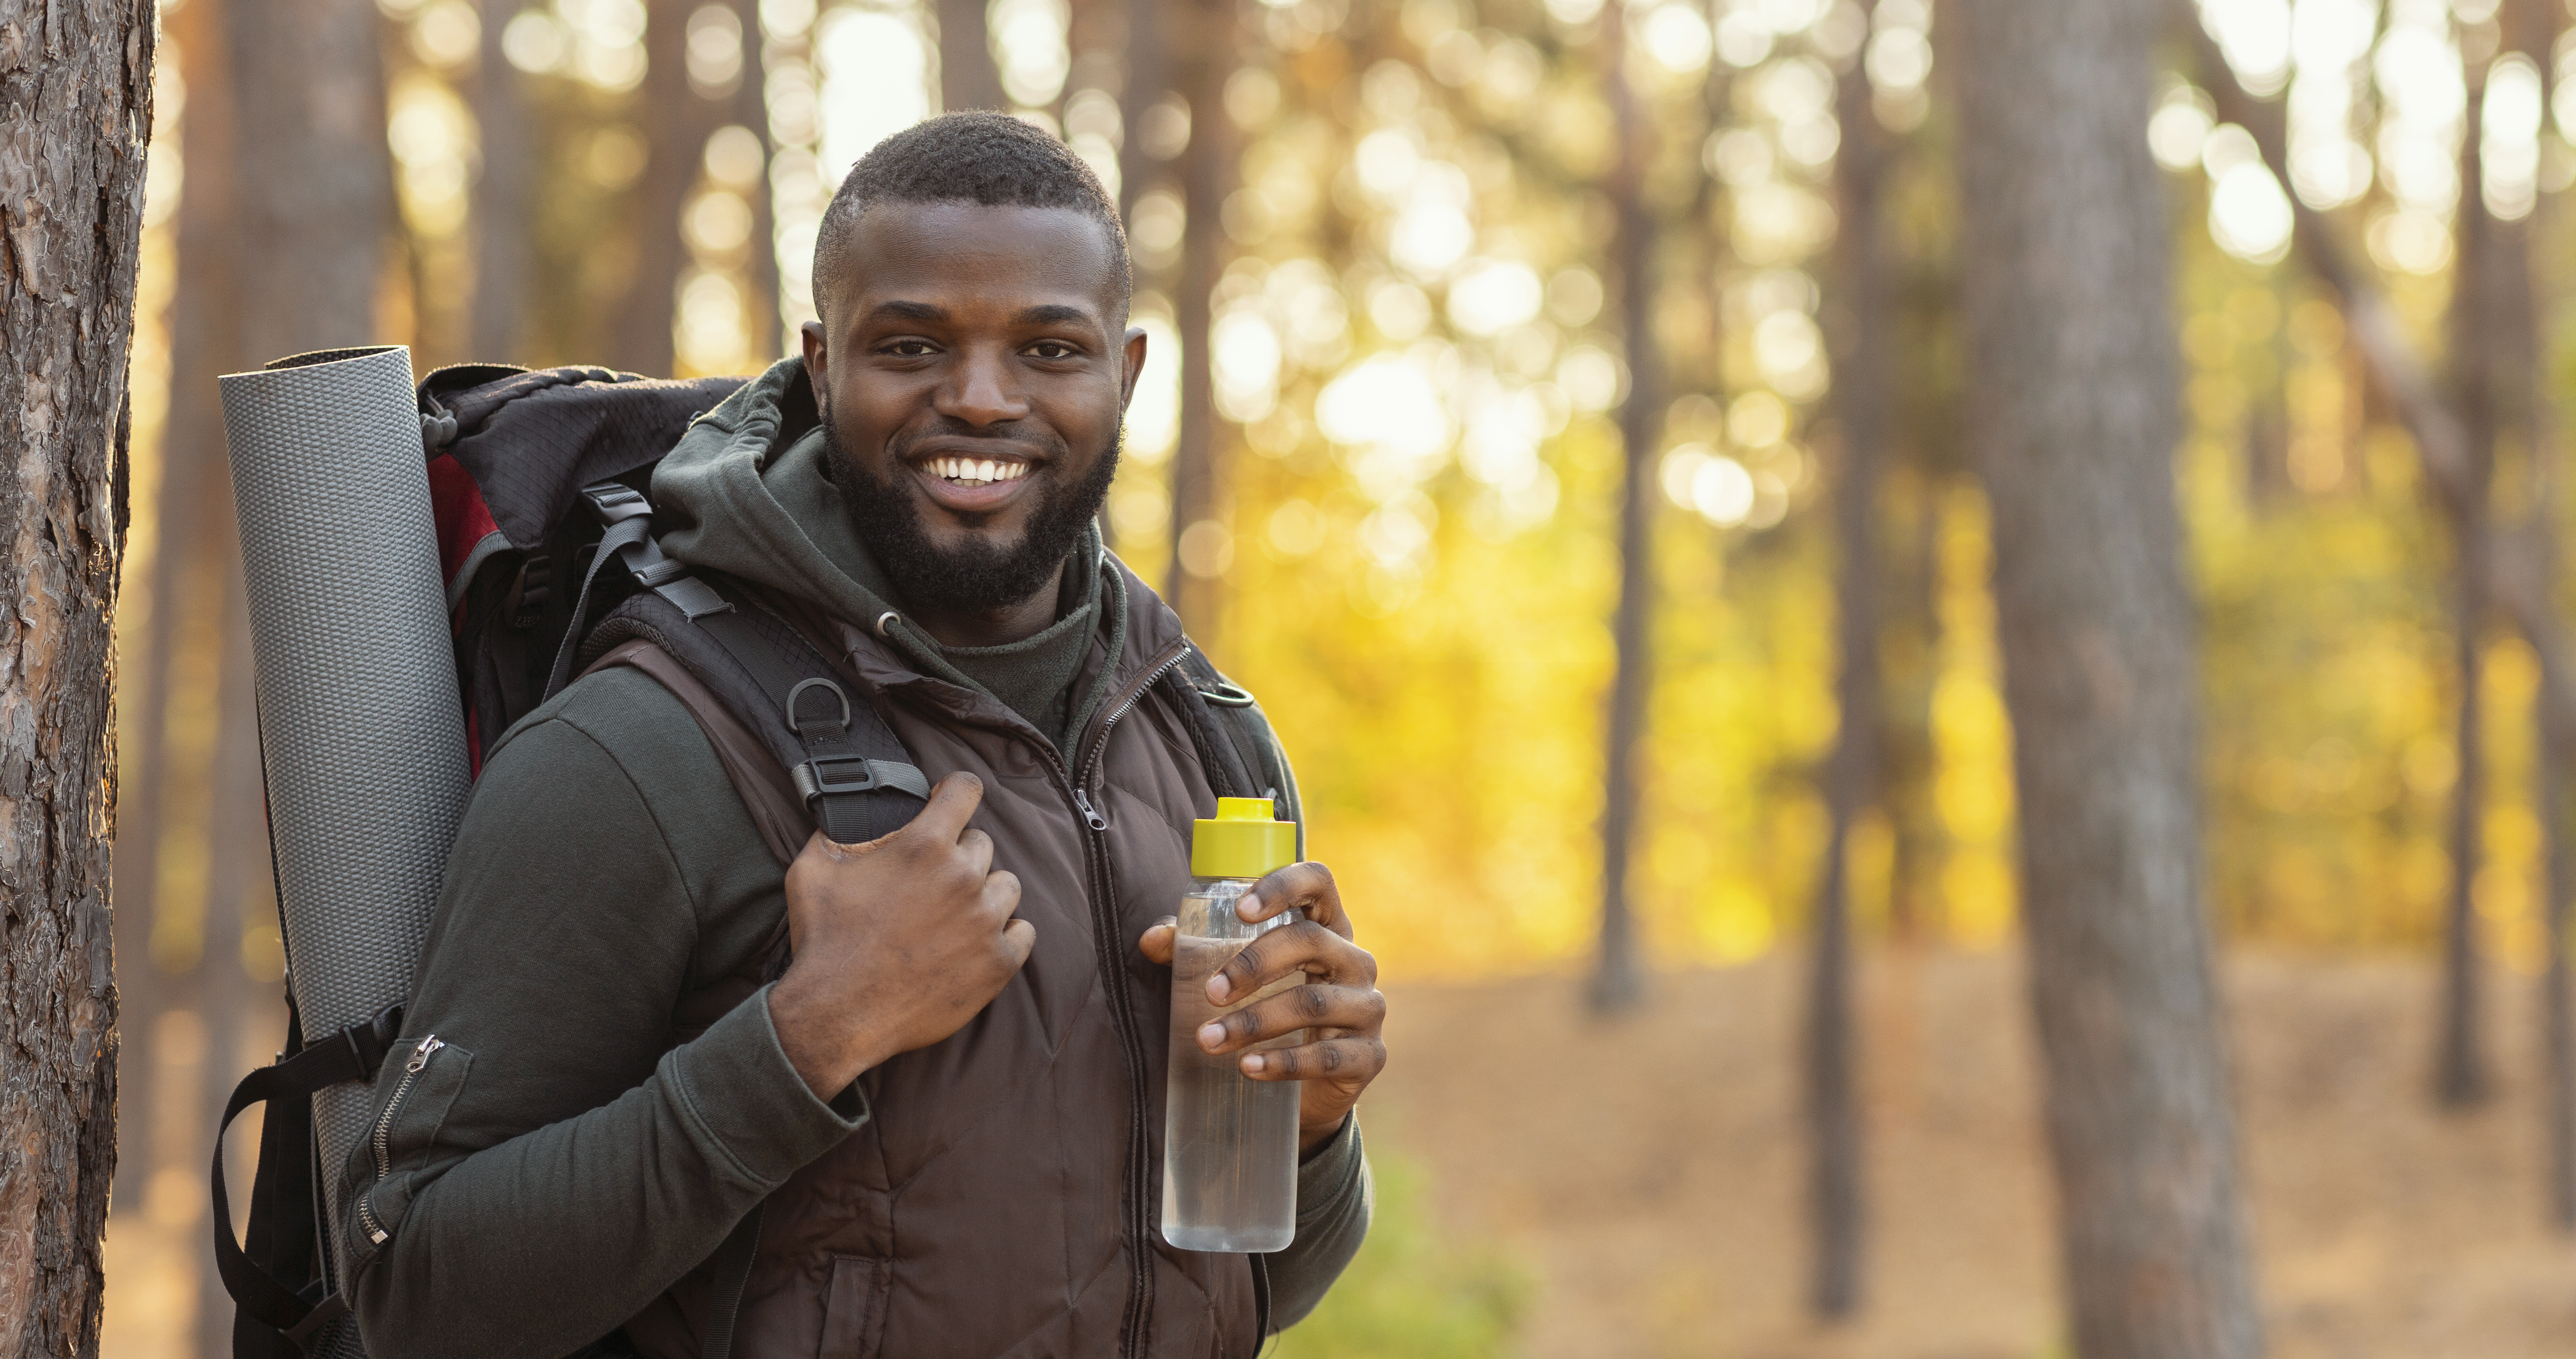
<svg viewBox="0 0 2576 1359">
<path fill-rule="evenodd" d="M 322 1039 L 410 998 L 466 805 L 412 353 L 299 353 L 222 389 L 286 959 Z M 371 1106 L 358 1083 L 314 1096 L 335 1282 Z"/>
</svg>

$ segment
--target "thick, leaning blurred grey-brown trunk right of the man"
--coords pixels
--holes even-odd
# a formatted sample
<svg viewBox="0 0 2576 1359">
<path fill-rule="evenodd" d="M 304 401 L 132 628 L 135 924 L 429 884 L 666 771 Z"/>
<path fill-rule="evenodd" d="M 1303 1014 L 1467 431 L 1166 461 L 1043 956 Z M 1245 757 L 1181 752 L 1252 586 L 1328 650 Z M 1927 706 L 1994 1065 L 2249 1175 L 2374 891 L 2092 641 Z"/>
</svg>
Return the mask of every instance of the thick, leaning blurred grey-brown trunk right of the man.
<svg viewBox="0 0 2576 1359">
<path fill-rule="evenodd" d="M 2074 1354 L 2262 1354 L 2202 918 L 2166 204 L 2164 10 L 1968 0 L 1958 155 L 1973 449 Z"/>
</svg>

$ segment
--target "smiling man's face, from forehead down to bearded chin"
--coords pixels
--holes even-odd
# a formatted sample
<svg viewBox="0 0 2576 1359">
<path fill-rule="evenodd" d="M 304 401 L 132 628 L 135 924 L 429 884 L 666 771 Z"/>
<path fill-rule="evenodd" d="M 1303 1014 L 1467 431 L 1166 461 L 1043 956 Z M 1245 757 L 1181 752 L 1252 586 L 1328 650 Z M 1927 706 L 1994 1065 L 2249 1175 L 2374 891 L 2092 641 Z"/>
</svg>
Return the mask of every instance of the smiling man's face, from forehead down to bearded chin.
<svg viewBox="0 0 2576 1359">
<path fill-rule="evenodd" d="M 1108 493 L 1144 333 L 1115 240 L 1072 209 L 878 204 L 804 328 L 835 477 L 917 609 L 1054 583 Z"/>
</svg>

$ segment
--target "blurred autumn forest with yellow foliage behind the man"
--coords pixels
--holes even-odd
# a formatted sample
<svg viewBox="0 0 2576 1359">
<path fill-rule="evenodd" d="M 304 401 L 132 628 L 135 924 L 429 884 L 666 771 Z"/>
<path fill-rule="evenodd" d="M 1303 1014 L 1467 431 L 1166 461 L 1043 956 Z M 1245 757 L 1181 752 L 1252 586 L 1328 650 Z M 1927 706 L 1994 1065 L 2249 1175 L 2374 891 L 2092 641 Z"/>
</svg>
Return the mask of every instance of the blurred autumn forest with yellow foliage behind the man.
<svg viewBox="0 0 2576 1359">
<path fill-rule="evenodd" d="M 1978 3 L 165 0 L 106 1351 L 229 1354 L 211 1111 L 283 1034 L 214 374 L 757 371 L 842 170 L 940 108 L 1121 196 L 1113 544 L 1273 712 L 1388 977 L 1381 1230 L 1288 1354 L 2063 1351 Z M 2566 1354 L 2576 0 L 2138 10 L 2264 1325 Z"/>
</svg>

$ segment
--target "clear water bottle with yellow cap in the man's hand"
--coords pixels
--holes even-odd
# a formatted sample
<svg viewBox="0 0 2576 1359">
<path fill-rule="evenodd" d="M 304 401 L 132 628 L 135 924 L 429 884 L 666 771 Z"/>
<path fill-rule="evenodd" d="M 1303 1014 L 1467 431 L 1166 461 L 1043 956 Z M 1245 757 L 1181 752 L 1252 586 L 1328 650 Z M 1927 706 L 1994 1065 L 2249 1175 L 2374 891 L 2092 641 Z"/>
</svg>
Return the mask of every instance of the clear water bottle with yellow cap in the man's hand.
<svg viewBox="0 0 2576 1359">
<path fill-rule="evenodd" d="M 1296 1080 L 1252 1080 L 1242 1052 L 1208 1055 L 1198 1029 L 1221 1013 L 1306 980 L 1291 972 L 1231 1003 L 1208 1001 L 1213 977 L 1255 936 L 1298 918 L 1247 923 L 1234 905 L 1270 869 L 1296 861 L 1296 823 L 1273 820 L 1267 797 L 1218 797 L 1216 820 L 1190 830 L 1190 892 L 1172 941 L 1172 1068 L 1164 1086 L 1162 1238 L 1182 1251 L 1283 1251 L 1296 1238 Z M 1260 1047 L 1296 1047 L 1303 1029 Z"/>
</svg>

